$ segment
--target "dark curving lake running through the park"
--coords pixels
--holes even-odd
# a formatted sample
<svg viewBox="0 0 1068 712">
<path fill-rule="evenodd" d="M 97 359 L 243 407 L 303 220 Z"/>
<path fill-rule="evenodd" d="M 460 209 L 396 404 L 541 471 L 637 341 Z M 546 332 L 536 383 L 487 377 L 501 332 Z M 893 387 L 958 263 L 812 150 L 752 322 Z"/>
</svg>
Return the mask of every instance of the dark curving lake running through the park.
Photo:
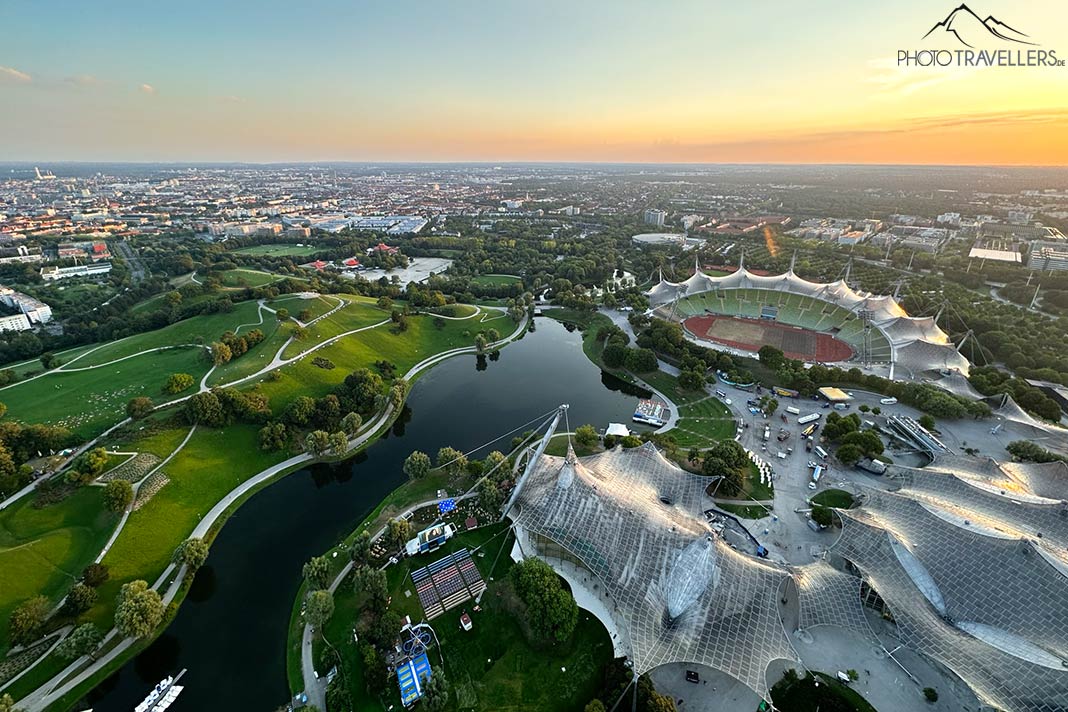
<svg viewBox="0 0 1068 712">
<path fill-rule="evenodd" d="M 400 465 L 412 450 L 468 450 L 565 402 L 572 428 L 603 428 L 629 423 L 635 393 L 590 363 L 579 332 L 551 319 L 538 318 L 496 360 L 465 355 L 435 366 L 388 436 L 350 460 L 300 470 L 253 495 L 219 533 L 167 631 L 85 701 L 96 712 L 129 712 L 160 679 L 188 668 L 170 708 L 176 712 L 284 705 L 285 637 L 304 561 L 404 481 Z M 506 452 L 509 440 L 494 448 Z"/>
</svg>

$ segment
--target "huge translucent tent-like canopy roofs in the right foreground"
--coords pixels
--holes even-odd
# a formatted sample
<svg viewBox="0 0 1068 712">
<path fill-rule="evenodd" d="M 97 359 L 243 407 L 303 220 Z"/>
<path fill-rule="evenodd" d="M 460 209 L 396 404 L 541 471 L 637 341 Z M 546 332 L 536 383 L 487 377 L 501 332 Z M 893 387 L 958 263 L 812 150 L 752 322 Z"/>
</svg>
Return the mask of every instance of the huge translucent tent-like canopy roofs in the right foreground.
<svg viewBox="0 0 1068 712">
<path fill-rule="evenodd" d="M 513 556 L 564 576 L 635 676 L 704 666 L 748 689 L 755 708 L 830 627 L 912 677 L 898 660 L 907 649 L 964 683 L 980 709 L 1068 710 L 1063 462 L 893 465 L 858 486 L 829 545 L 799 565 L 726 536 L 709 478 L 651 443 L 554 457 L 544 454 L 554 429 L 505 508 Z"/>
</svg>

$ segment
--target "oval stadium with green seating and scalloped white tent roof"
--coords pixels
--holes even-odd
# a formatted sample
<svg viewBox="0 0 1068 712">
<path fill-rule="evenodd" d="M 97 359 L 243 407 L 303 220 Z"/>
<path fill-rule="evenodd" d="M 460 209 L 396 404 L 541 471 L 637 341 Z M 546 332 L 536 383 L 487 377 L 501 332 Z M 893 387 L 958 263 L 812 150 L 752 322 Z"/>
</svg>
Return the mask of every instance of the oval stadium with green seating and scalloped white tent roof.
<svg viewBox="0 0 1068 712">
<path fill-rule="evenodd" d="M 848 276 L 847 276 L 848 279 Z M 907 378 L 967 376 L 970 364 L 933 317 L 913 317 L 890 296 L 845 280 L 810 282 L 792 269 L 771 276 L 740 267 L 726 276 L 663 279 L 646 292 L 654 313 L 706 345 L 751 353 L 770 344 L 810 363 L 837 363 Z"/>
</svg>

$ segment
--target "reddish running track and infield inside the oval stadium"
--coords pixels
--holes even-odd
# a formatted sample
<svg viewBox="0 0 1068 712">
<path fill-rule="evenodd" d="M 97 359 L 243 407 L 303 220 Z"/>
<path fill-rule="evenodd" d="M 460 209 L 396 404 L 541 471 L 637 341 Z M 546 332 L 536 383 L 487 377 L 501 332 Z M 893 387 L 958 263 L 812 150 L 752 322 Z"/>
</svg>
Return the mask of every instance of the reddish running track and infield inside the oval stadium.
<svg viewBox="0 0 1068 712">
<path fill-rule="evenodd" d="M 698 338 L 731 346 L 744 351 L 758 351 L 770 345 L 790 359 L 817 363 L 846 361 L 853 350 L 845 342 L 797 327 L 787 327 L 767 319 L 740 319 L 732 316 L 693 316 L 682 325 Z"/>
</svg>

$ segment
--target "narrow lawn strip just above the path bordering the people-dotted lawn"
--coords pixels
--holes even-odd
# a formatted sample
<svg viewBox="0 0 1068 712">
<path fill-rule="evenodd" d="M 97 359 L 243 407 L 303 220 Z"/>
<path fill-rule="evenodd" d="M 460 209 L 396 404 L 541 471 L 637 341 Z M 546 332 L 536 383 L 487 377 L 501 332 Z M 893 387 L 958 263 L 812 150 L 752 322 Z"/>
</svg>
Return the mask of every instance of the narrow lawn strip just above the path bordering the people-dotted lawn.
<svg viewBox="0 0 1068 712">
<path fill-rule="evenodd" d="M 241 325 L 247 325 L 248 328 L 258 326 L 261 321 L 258 312 L 260 307 L 255 301 L 239 302 L 234 304 L 234 308 L 229 312 L 201 314 L 176 321 L 162 329 L 111 342 L 70 364 L 70 367 L 97 366 L 109 361 L 114 361 L 115 359 L 122 359 L 162 346 L 198 343 L 210 344 L 214 341 L 218 341 L 226 331 L 237 331 L 237 328 Z M 264 321 L 266 321 L 267 317 L 273 318 L 273 315 L 265 312 L 263 315 Z M 69 361 L 66 362 L 69 363 Z"/>
</svg>

